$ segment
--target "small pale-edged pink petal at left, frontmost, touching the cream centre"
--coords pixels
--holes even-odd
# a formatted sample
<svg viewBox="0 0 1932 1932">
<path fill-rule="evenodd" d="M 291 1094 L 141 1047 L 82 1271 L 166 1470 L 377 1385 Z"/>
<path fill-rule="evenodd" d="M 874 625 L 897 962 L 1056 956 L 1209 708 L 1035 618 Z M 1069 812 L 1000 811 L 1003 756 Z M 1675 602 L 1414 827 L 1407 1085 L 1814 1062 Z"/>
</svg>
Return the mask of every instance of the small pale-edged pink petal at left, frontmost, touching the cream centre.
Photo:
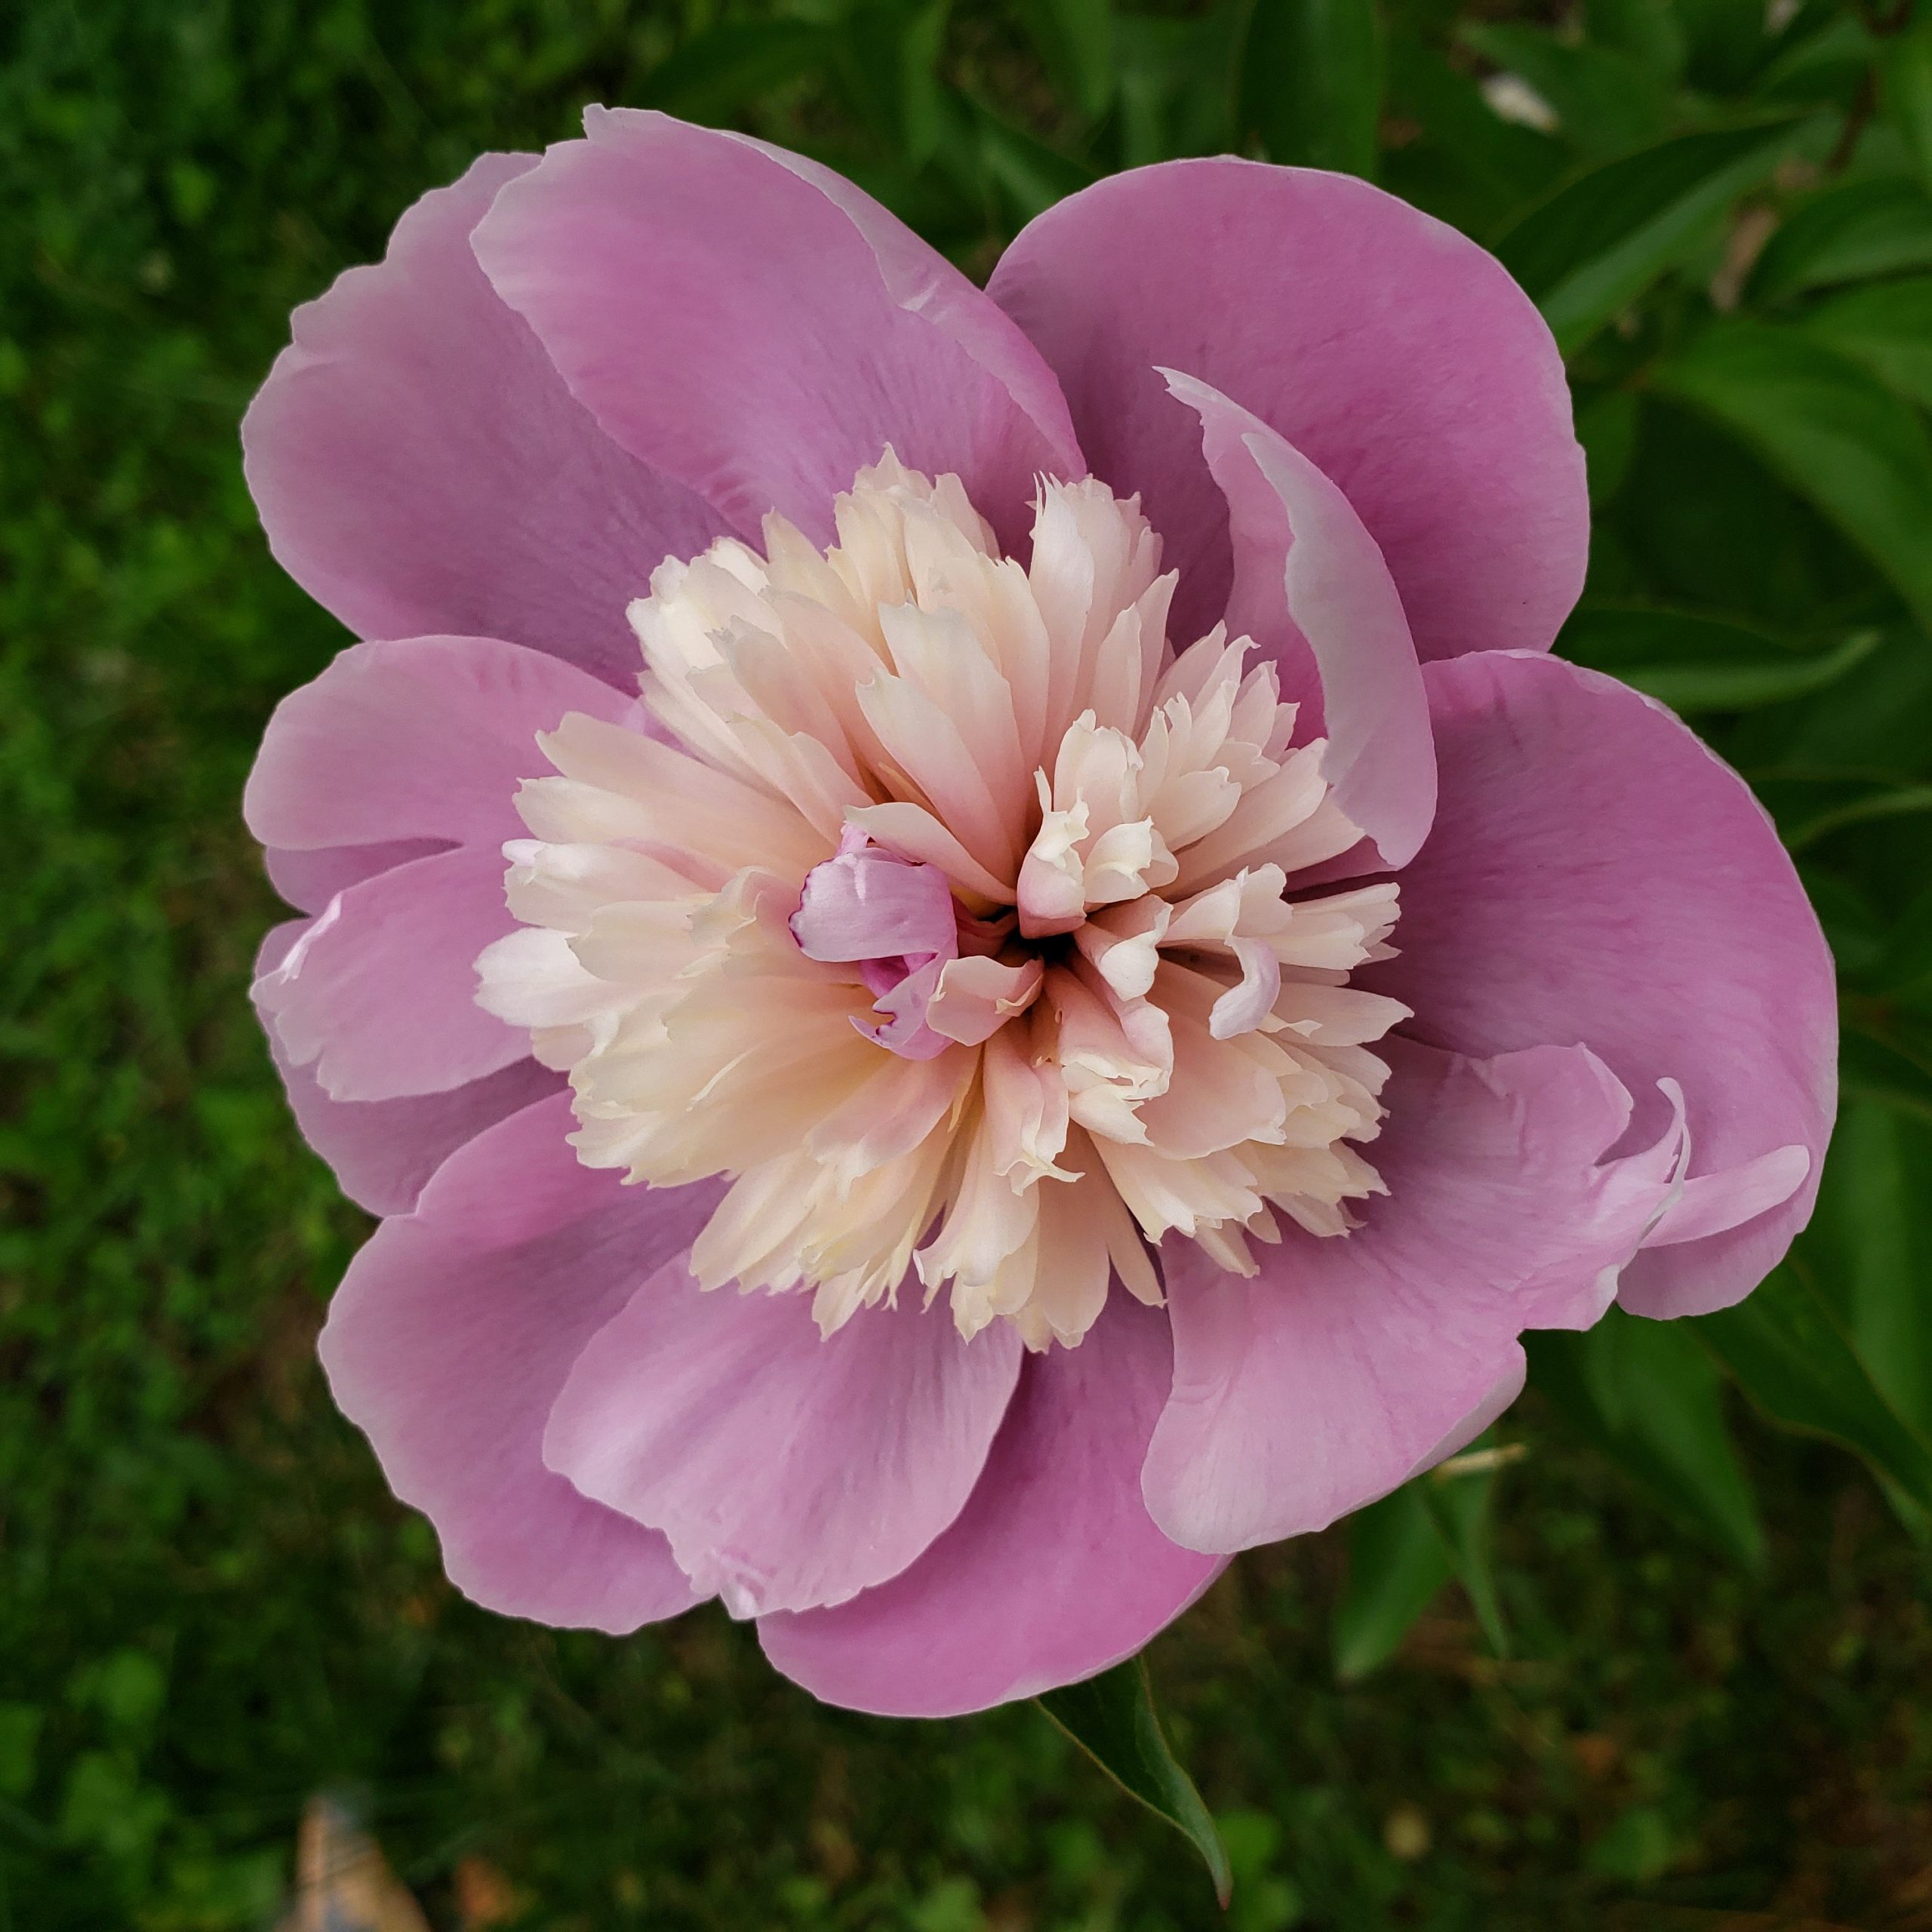
<svg viewBox="0 0 1932 1932">
<path fill-rule="evenodd" d="M 475 1003 L 477 954 L 514 929 L 502 854 L 437 852 L 336 895 L 253 997 L 330 1099 L 446 1094 L 529 1053 Z"/>
</svg>

